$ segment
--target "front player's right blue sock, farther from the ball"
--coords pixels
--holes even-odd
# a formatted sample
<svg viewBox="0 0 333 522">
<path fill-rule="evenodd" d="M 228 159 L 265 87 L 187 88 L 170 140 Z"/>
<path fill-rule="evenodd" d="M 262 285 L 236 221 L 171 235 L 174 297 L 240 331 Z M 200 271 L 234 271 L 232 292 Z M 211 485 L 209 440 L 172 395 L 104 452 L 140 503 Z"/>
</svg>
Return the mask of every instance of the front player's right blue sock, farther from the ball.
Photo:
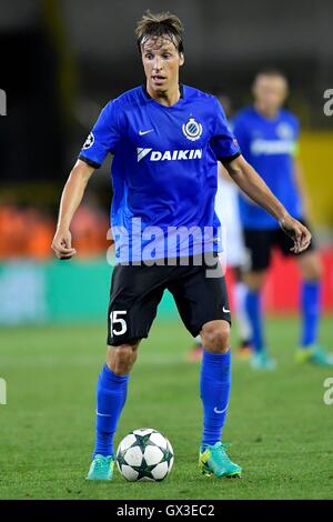
<svg viewBox="0 0 333 522">
<path fill-rule="evenodd" d="M 231 387 L 231 354 L 203 350 L 200 396 L 203 404 L 202 446 L 221 441 Z"/>
</svg>

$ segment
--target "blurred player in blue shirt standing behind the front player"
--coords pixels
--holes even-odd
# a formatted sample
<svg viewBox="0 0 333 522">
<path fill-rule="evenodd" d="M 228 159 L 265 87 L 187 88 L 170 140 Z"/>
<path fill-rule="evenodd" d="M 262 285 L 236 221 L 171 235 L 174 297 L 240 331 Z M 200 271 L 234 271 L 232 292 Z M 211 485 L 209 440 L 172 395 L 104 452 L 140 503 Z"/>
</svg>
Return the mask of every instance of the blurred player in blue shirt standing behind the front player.
<svg viewBox="0 0 333 522">
<path fill-rule="evenodd" d="M 280 71 L 266 70 L 256 74 L 254 104 L 236 114 L 233 130 L 244 158 L 260 172 L 287 211 L 307 227 L 306 197 L 297 160 L 299 121 L 290 111 L 282 109 L 287 89 L 286 78 Z M 241 193 L 240 213 L 249 255 L 245 302 L 253 332 L 251 363 L 258 369 L 273 369 L 275 361 L 268 353 L 263 333 L 261 291 L 273 247 L 290 255 L 293 254 L 292 241 L 268 212 Z M 297 257 L 297 264 L 302 274 L 302 333 L 296 359 L 331 365 L 333 357 L 317 343 L 321 262 L 313 243 Z"/>
</svg>

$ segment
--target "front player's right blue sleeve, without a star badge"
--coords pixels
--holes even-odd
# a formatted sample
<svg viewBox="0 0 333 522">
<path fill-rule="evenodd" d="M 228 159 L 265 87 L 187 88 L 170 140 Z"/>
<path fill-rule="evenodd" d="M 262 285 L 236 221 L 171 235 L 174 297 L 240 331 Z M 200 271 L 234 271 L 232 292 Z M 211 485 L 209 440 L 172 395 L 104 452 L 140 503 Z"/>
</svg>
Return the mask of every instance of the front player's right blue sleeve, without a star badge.
<svg viewBox="0 0 333 522">
<path fill-rule="evenodd" d="M 228 124 L 224 111 L 215 98 L 214 100 L 214 128 L 211 138 L 211 147 L 218 160 L 228 163 L 239 155 L 241 149 Z"/>
</svg>

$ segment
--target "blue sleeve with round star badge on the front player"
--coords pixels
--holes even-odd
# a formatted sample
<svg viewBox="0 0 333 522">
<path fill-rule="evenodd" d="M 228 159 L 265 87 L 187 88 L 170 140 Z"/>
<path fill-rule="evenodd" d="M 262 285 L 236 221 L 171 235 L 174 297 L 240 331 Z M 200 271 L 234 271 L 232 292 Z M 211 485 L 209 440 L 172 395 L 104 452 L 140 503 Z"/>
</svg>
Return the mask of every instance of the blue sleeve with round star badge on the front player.
<svg viewBox="0 0 333 522">
<path fill-rule="evenodd" d="M 114 153 L 120 140 L 114 103 L 110 101 L 101 111 L 80 151 L 79 159 L 99 169 L 109 152 Z"/>
</svg>

